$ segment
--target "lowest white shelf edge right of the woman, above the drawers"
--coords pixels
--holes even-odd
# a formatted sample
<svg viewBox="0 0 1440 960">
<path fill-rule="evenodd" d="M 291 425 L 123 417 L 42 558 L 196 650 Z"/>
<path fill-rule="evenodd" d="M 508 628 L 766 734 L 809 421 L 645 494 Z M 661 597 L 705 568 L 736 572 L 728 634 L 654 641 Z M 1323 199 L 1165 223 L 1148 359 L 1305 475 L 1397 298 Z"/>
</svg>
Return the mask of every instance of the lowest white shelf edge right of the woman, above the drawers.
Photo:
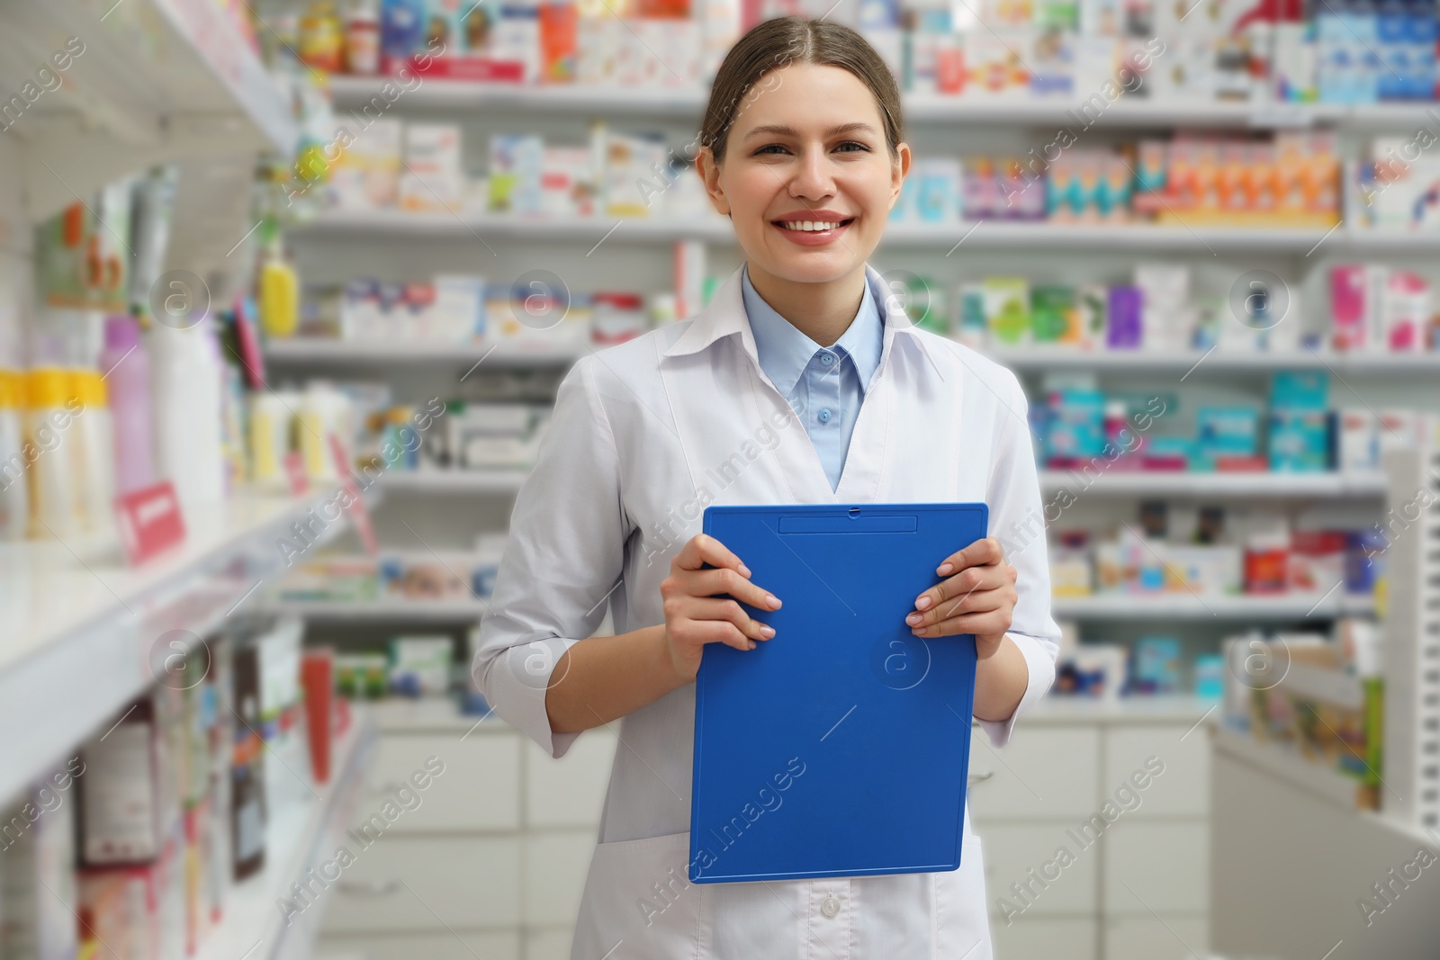
<svg viewBox="0 0 1440 960">
<path fill-rule="evenodd" d="M 1372 613 L 1371 597 L 1346 596 L 1211 596 L 1184 590 L 1168 593 L 1097 593 L 1087 597 L 1054 597 L 1050 610 L 1076 620 L 1322 620 L 1349 613 Z"/>
</svg>

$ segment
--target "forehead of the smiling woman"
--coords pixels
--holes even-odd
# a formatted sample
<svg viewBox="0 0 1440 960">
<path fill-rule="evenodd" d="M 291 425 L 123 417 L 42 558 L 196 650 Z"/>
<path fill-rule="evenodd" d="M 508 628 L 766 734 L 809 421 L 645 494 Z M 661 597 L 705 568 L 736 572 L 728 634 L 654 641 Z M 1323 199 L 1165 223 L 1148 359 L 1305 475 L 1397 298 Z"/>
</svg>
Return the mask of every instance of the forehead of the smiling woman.
<svg viewBox="0 0 1440 960">
<path fill-rule="evenodd" d="M 734 132 L 785 125 L 801 132 L 845 124 L 884 131 L 880 104 L 864 81 L 840 66 L 789 63 L 762 76 L 740 101 Z"/>
</svg>

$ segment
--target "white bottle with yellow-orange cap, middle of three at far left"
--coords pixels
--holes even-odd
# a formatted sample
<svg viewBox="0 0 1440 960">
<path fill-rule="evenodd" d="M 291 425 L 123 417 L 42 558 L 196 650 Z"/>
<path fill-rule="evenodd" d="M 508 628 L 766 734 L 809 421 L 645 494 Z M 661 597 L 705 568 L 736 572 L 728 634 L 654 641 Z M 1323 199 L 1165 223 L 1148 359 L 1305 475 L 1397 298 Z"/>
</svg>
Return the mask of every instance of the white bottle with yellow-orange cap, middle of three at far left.
<svg viewBox="0 0 1440 960">
<path fill-rule="evenodd" d="M 39 540 L 79 533 L 73 465 L 73 438 L 68 436 L 78 409 L 69 371 L 58 367 L 30 370 L 24 384 L 24 439 L 35 445 L 30 481 L 30 535 Z M 66 403 L 69 402 L 69 403 Z"/>
</svg>

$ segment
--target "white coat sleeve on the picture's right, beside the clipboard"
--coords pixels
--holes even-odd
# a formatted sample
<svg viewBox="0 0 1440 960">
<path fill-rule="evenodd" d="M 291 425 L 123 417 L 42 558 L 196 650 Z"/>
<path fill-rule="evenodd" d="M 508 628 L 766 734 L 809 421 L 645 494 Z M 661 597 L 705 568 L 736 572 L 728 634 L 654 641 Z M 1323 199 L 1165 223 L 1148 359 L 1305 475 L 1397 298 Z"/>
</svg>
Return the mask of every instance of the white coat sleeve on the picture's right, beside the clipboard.
<svg viewBox="0 0 1440 960">
<path fill-rule="evenodd" d="M 1025 656 L 1030 681 L 1008 720 L 981 720 L 991 744 L 1004 747 L 1015 721 L 1056 682 L 1060 628 L 1050 616 L 1050 560 L 1045 550 L 1045 514 L 1040 501 L 1040 474 L 1030 440 L 1028 403 L 1020 381 L 1005 371 L 1008 390 L 999 413 L 991 482 L 986 492 L 991 535 L 999 538 L 1005 558 L 1015 567 L 1015 615 L 1009 639 Z"/>
</svg>

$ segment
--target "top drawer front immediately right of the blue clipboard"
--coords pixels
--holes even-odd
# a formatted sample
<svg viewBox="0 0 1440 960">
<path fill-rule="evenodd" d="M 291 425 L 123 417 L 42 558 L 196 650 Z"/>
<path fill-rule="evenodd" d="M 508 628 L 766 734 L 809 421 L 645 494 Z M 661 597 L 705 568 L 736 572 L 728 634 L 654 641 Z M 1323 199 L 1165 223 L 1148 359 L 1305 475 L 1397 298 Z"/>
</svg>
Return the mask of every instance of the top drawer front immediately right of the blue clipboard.
<svg viewBox="0 0 1440 960">
<path fill-rule="evenodd" d="M 1024 725 L 1021 720 L 1021 725 Z M 1017 728 L 1004 750 L 976 727 L 971 735 L 971 818 L 1084 819 L 1099 799 L 1100 731 L 1096 727 Z"/>
</svg>

